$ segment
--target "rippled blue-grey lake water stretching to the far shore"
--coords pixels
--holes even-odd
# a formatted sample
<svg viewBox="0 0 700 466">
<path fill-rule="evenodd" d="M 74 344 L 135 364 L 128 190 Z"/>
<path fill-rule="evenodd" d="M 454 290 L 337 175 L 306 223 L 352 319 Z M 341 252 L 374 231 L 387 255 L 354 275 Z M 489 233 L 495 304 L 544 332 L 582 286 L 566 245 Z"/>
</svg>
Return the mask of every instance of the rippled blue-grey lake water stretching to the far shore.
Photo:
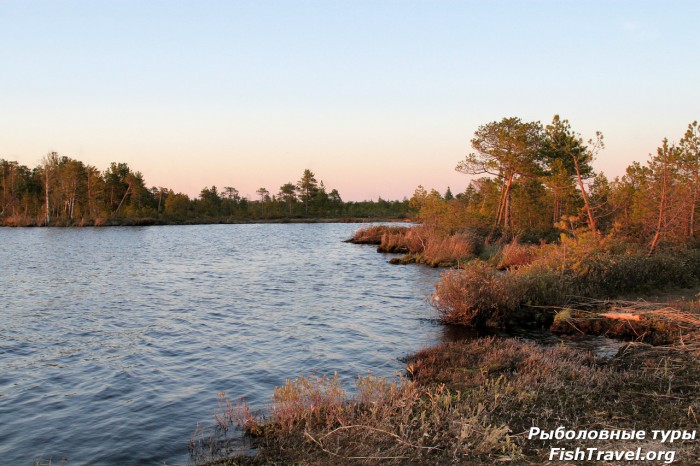
<svg viewBox="0 0 700 466">
<path fill-rule="evenodd" d="M 216 394 L 392 376 L 449 339 L 439 271 L 357 224 L 0 229 L 0 462 L 186 464 Z"/>
</svg>

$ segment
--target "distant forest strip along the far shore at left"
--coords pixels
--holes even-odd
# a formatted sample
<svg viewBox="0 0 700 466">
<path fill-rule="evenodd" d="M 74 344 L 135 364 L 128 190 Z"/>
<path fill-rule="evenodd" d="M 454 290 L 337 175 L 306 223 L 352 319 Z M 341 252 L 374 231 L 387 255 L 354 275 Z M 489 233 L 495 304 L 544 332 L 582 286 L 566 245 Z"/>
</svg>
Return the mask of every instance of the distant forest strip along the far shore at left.
<svg viewBox="0 0 700 466">
<path fill-rule="evenodd" d="M 258 189 L 255 199 L 233 186 L 205 187 L 192 199 L 172 189 L 148 188 L 143 175 L 126 163 L 100 171 L 56 152 L 34 168 L 0 159 L 0 193 L 3 226 L 392 219 L 405 217 L 409 209 L 408 200 L 344 202 L 308 169 L 277 193 Z"/>
</svg>

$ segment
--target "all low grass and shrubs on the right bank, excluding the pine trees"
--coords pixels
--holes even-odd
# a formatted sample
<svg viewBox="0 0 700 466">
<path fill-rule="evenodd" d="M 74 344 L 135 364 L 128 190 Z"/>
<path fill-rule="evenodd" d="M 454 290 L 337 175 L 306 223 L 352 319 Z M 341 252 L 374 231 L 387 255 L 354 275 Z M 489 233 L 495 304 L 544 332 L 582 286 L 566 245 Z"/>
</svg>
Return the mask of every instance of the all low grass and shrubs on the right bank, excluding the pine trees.
<svg viewBox="0 0 700 466">
<path fill-rule="evenodd" d="M 433 296 L 443 322 L 544 325 L 560 334 L 631 341 L 601 359 L 564 346 L 486 337 L 427 348 L 408 359 L 405 376 L 361 377 L 350 392 L 337 378 L 287 381 L 275 390 L 266 417 L 245 405 L 221 405 L 220 429 L 243 429 L 256 454 L 211 464 L 639 464 L 567 463 L 552 459 L 552 448 L 663 450 L 673 457 L 648 464 L 700 463 L 697 294 L 664 304 L 612 299 L 697 286 L 700 251 L 648 255 L 586 235 L 540 245 L 488 245 L 475 237 L 381 226 L 351 241 L 416 262 L 458 265 L 443 274 Z M 532 428 L 645 436 L 543 440 L 529 435 Z M 696 439 L 662 442 L 653 431 L 696 432 Z M 209 453 L 216 456 L 216 448 Z"/>
</svg>

